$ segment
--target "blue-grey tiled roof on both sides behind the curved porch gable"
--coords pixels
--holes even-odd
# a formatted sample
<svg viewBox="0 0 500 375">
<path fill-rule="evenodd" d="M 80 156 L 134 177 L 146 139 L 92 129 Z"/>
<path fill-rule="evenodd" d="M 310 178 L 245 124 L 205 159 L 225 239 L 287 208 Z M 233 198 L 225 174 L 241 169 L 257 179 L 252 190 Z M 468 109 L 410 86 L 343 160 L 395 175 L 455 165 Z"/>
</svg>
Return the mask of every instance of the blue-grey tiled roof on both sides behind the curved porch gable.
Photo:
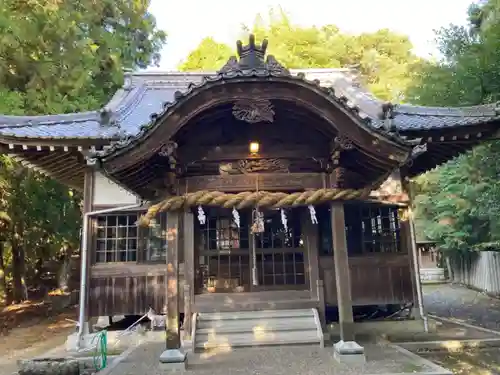
<svg viewBox="0 0 500 375">
<path fill-rule="evenodd" d="M 318 80 L 323 87 L 332 88 L 349 108 L 360 117 L 371 120 L 374 129 L 384 127 L 384 103 L 364 90 L 348 69 L 291 70 L 292 76 L 302 73 L 308 81 Z M 215 73 L 180 73 L 147 71 L 126 77 L 124 87 L 101 110 L 94 112 L 49 116 L 0 115 L 0 137 L 40 139 L 116 139 L 137 136 L 151 115 L 162 113 L 164 103 L 175 102 L 175 92 L 189 91 L 204 77 Z M 110 121 L 103 121 L 103 113 Z M 395 105 L 391 123 L 394 130 L 405 132 L 467 126 L 499 118 L 496 105 L 468 108 L 420 107 Z"/>
</svg>

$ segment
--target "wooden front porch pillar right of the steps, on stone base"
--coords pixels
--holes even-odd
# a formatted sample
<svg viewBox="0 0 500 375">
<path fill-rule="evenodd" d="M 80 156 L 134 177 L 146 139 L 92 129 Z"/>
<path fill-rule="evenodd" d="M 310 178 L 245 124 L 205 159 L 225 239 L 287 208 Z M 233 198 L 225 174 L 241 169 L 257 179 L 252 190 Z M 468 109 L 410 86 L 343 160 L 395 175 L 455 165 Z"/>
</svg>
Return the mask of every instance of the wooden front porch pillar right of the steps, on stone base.
<svg viewBox="0 0 500 375">
<path fill-rule="evenodd" d="M 335 263 L 335 282 L 337 286 L 337 305 L 339 309 L 340 339 L 354 341 L 354 317 L 352 314 L 351 277 L 347 254 L 344 206 L 332 204 L 333 260 Z"/>
</svg>

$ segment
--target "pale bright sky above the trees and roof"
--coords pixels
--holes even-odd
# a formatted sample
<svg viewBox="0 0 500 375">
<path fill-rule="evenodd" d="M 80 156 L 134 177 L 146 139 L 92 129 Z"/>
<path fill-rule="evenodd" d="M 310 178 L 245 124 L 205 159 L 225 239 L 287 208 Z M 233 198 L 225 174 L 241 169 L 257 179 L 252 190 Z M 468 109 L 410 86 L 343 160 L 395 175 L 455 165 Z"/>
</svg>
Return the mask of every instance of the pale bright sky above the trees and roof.
<svg viewBox="0 0 500 375">
<path fill-rule="evenodd" d="M 234 45 L 241 25 L 251 25 L 258 13 L 281 6 L 293 23 L 303 26 L 334 24 L 341 31 L 371 32 L 388 28 L 406 34 L 415 53 L 436 53 L 434 30 L 466 22 L 472 0 L 152 0 L 158 27 L 168 33 L 160 69 L 178 63 L 207 36 Z"/>
</svg>

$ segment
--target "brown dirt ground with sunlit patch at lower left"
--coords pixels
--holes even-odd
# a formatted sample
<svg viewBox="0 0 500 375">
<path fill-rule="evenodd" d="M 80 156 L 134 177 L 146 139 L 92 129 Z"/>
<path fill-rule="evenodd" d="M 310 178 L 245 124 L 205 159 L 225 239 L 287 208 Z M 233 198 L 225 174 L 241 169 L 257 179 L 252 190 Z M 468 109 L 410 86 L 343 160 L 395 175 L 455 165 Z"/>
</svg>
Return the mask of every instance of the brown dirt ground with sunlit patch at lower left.
<svg viewBox="0 0 500 375">
<path fill-rule="evenodd" d="M 0 310 L 0 375 L 17 370 L 17 360 L 39 356 L 64 344 L 75 330 L 67 319 L 76 318 L 76 309 L 53 314 L 40 302 L 8 306 Z"/>
</svg>

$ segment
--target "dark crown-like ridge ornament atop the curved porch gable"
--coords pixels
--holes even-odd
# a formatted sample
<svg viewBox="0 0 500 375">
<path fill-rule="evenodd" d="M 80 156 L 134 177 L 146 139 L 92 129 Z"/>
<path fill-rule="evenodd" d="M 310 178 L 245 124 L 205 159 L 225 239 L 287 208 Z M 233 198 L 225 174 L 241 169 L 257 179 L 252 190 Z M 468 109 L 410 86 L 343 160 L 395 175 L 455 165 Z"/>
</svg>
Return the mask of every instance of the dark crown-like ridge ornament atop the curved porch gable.
<svg viewBox="0 0 500 375">
<path fill-rule="evenodd" d="M 253 70 L 260 74 L 272 74 L 290 76 L 290 71 L 280 64 L 272 55 L 267 55 L 268 41 L 264 39 L 262 44 L 255 42 L 255 35 L 250 34 L 248 44 L 243 45 L 241 40 L 236 42 L 238 57 L 231 56 L 226 64 L 217 72 L 219 74 L 234 74 L 238 72 Z"/>
</svg>

